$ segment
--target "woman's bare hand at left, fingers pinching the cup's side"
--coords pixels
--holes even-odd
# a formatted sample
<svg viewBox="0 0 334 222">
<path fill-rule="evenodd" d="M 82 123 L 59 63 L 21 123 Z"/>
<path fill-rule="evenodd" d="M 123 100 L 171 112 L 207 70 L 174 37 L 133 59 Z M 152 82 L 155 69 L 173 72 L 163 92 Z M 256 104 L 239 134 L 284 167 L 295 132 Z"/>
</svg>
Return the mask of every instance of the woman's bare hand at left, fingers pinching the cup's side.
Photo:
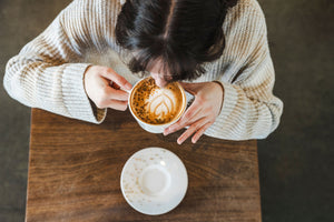
<svg viewBox="0 0 334 222">
<path fill-rule="evenodd" d="M 87 95 L 98 108 L 127 109 L 129 93 L 125 90 L 131 90 L 132 85 L 111 68 L 89 67 L 85 72 L 84 84 Z"/>
</svg>

